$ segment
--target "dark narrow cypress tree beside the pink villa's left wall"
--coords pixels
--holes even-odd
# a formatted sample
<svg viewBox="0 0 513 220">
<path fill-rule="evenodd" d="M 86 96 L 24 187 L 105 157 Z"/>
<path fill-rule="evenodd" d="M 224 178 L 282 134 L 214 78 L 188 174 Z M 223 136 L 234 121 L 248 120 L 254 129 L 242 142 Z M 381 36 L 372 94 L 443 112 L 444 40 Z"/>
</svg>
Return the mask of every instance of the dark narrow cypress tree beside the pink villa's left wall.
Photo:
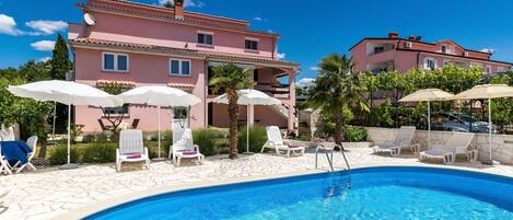
<svg viewBox="0 0 513 220">
<path fill-rule="evenodd" d="M 68 45 L 65 38 L 59 34 L 51 56 L 51 79 L 66 80 L 66 73 L 71 70 Z"/>
</svg>

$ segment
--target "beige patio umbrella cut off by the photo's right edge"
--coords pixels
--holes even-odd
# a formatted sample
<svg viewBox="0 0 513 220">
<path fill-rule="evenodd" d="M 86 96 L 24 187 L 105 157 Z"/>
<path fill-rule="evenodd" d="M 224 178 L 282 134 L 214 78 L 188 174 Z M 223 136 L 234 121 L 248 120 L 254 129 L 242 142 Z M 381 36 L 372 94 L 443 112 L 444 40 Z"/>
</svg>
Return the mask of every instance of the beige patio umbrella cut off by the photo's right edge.
<svg viewBox="0 0 513 220">
<path fill-rule="evenodd" d="M 486 99 L 488 100 L 488 139 L 490 142 L 490 161 L 493 162 L 492 158 L 492 141 L 491 141 L 491 99 L 495 97 L 511 97 L 513 96 L 513 88 L 506 84 L 480 84 L 476 85 L 470 90 L 464 91 L 454 96 L 455 100 L 476 100 Z"/>
</svg>

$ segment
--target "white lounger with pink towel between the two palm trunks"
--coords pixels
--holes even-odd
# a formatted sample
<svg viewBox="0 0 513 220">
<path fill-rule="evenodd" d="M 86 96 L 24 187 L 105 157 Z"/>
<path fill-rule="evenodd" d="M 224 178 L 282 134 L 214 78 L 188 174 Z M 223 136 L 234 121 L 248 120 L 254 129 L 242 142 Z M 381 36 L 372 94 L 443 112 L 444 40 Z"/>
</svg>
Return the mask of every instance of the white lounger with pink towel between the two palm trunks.
<svg viewBox="0 0 513 220">
<path fill-rule="evenodd" d="M 281 155 L 280 151 L 285 151 L 287 158 L 290 158 L 291 153 L 296 153 L 299 152 L 301 155 L 304 155 L 304 147 L 296 147 L 296 148 L 291 148 L 289 144 L 287 144 L 283 141 L 283 138 L 281 137 L 280 128 L 278 126 L 268 126 L 266 128 L 267 130 L 267 143 L 261 147 L 260 153 L 266 150 L 266 148 L 270 148 L 276 150 L 276 153 L 278 155 Z"/>
</svg>

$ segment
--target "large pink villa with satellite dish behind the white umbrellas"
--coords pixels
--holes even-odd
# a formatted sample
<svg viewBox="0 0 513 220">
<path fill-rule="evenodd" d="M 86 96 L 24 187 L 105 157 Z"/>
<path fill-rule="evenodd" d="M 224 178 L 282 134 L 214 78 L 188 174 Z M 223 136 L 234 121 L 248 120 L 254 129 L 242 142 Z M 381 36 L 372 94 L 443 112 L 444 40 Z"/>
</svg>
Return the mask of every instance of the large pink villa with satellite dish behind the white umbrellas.
<svg viewBox="0 0 513 220">
<path fill-rule="evenodd" d="M 89 0 L 77 4 L 83 10 L 83 24 L 69 25 L 69 45 L 74 55 L 74 79 L 96 88 L 118 84 L 178 88 L 200 97 L 190 108 L 193 128 L 228 127 L 228 107 L 213 104 L 209 89 L 211 68 L 235 63 L 250 68 L 255 89 L 282 102 L 281 106 L 252 106 L 249 118 L 241 106 L 241 124 L 258 123 L 294 129 L 295 62 L 277 56 L 279 35 L 250 30 L 247 21 L 184 11 L 124 0 Z M 280 82 L 288 82 L 287 84 Z M 108 109 L 126 114 L 125 123 L 142 130 L 156 130 L 156 107 L 125 106 Z M 171 128 L 183 111 L 162 109 L 162 125 Z M 170 123 L 164 123 L 170 121 Z M 75 123 L 85 132 L 102 131 L 101 109 L 77 106 Z"/>
</svg>

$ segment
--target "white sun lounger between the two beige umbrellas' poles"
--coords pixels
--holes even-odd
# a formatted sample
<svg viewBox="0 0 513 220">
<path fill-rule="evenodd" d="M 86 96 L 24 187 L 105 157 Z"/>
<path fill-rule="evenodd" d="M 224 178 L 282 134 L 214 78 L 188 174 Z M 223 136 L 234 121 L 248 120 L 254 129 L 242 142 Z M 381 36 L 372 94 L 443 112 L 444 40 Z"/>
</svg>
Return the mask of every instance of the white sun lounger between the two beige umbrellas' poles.
<svg viewBox="0 0 513 220">
<path fill-rule="evenodd" d="M 444 144 L 433 144 L 429 150 L 420 152 L 420 161 L 425 159 L 443 159 L 445 164 L 452 164 L 457 154 L 465 154 L 468 159 L 468 147 L 474 139 L 473 132 L 454 132 Z"/>
</svg>

